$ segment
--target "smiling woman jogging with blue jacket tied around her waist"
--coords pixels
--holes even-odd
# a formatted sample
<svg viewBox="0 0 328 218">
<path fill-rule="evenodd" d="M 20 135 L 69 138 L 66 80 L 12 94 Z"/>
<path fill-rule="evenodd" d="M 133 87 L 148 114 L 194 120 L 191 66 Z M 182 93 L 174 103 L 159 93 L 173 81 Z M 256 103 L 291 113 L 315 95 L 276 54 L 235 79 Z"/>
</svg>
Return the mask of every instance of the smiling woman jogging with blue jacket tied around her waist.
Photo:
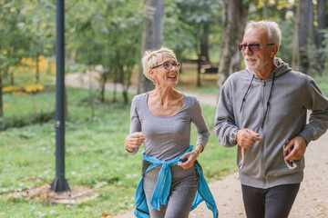
<svg viewBox="0 0 328 218">
<path fill-rule="evenodd" d="M 146 52 L 142 65 L 155 89 L 136 95 L 131 104 L 125 147 L 129 154 L 137 154 L 139 146 L 145 146 L 134 213 L 140 218 L 187 218 L 205 200 L 217 217 L 215 201 L 196 161 L 209 140 L 209 128 L 197 99 L 174 89 L 181 63 L 172 50 L 162 47 Z M 194 150 L 191 123 L 198 132 Z"/>
</svg>

